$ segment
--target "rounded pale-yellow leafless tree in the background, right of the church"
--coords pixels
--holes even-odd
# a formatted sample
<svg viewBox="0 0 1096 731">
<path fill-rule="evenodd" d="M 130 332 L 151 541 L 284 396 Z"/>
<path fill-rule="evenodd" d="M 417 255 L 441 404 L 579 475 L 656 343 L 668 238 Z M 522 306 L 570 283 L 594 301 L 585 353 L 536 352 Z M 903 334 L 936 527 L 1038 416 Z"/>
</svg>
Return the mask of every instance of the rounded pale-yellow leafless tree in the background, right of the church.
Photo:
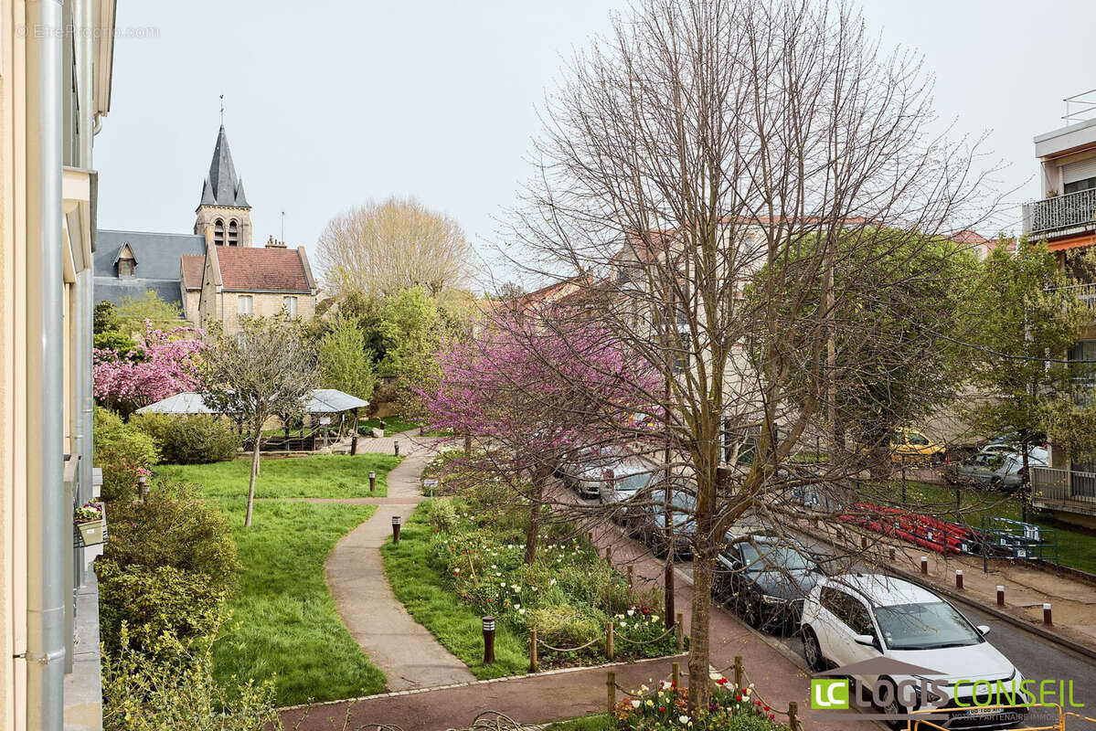
<svg viewBox="0 0 1096 731">
<path fill-rule="evenodd" d="M 335 294 L 388 296 L 418 284 L 437 297 L 466 283 L 471 248 L 455 219 L 392 197 L 332 218 L 318 255 Z"/>
</svg>

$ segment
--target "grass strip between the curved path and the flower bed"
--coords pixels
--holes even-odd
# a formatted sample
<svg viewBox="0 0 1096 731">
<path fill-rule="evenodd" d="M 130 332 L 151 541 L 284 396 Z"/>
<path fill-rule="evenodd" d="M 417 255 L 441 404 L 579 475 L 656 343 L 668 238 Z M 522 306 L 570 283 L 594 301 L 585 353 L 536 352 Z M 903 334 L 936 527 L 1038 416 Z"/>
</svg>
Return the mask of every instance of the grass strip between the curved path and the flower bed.
<svg viewBox="0 0 1096 731">
<path fill-rule="evenodd" d="M 481 617 L 443 582 L 431 564 L 431 527 L 426 522 L 430 502 L 423 502 L 403 524 L 399 545 L 380 549 L 385 573 L 396 597 L 408 613 L 430 629 L 449 652 L 460 659 L 479 679 L 520 675 L 528 671 L 526 640 L 505 623 L 498 623 L 494 636 L 495 662 L 483 664 Z"/>
</svg>

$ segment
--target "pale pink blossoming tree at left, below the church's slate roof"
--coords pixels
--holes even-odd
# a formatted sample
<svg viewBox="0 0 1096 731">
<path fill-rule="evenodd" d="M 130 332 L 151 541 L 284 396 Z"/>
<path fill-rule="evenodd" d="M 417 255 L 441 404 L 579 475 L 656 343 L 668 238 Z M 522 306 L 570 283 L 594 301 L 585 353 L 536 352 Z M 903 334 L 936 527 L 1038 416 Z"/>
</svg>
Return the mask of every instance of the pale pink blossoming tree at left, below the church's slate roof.
<svg viewBox="0 0 1096 731">
<path fill-rule="evenodd" d="M 198 386 L 197 365 L 205 344 L 194 328 L 161 330 L 145 320 L 137 346 L 128 353 L 94 351 L 95 398 L 123 414 Z"/>
</svg>

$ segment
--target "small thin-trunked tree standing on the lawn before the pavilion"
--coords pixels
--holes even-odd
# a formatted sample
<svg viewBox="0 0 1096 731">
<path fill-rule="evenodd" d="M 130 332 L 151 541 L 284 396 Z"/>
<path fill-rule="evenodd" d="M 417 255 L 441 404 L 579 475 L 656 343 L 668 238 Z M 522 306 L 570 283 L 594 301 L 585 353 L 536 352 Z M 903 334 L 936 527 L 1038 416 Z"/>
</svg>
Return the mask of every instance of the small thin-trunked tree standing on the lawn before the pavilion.
<svg viewBox="0 0 1096 731">
<path fill-rule="evenodd" d="M 274 415 L 286 420 L 301 413 L 304 399 L 315 387 L 315 357 L 292 320 L 249 318 L 238 333 L 216 331 L 208 338 L 202 374 L 207 406 L 242 424 L 253 444 L 243 518 L 244 527 L 250 527 L 263 424 Z"/>
</svg>

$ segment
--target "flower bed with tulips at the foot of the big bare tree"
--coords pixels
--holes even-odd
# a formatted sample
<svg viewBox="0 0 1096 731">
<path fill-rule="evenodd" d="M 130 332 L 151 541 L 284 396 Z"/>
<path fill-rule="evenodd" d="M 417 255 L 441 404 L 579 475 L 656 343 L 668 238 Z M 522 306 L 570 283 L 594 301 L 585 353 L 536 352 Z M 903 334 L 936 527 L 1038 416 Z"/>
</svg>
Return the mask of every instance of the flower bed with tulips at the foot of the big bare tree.
<svg viewBox="0 0 1096 731">
<path fill-rule="evenodd" d="M 715 687 L 704 712 L 690 716 L 685 690 L 660 681 L 655 688 L 641 686 L 639 693 L 616 705 L 614 718 L 620 731 L 776 731 L 788 727 L 777 722 L 777 711 L 754 697 L 753 684 L 735 688 L 726 677 L 713 675 Z"/>
</svg>

